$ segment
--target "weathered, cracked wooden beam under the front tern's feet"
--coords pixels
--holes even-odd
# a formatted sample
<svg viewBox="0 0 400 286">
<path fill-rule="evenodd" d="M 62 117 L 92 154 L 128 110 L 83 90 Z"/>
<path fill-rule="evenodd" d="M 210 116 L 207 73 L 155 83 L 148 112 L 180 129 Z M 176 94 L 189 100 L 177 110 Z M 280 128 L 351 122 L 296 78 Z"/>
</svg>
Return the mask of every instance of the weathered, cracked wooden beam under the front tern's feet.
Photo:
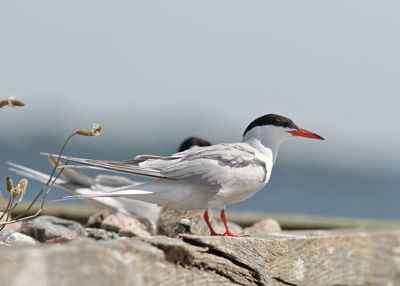
<svg viewBox="0 0 400 286">
<path fill-rule="evenodd" d="M 400 230 L 0 246 L 1 285 L 400 285 Z"/>
</svg>

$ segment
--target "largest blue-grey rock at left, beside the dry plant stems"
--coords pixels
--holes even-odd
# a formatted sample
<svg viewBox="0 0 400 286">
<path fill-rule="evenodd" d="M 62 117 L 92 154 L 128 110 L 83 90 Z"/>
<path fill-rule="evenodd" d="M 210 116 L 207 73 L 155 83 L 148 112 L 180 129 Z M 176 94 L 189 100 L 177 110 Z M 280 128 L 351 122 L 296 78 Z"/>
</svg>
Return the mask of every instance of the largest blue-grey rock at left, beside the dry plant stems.
<svg viewBox="0 0 400 286">
<path fill-rule="evenodd" d="M 79 236 L 86 236 L 80 223 L 53 216 L 40 216 L 23 222 L 21 232 L 40 242 L 67 241 Z"/>
</svg>

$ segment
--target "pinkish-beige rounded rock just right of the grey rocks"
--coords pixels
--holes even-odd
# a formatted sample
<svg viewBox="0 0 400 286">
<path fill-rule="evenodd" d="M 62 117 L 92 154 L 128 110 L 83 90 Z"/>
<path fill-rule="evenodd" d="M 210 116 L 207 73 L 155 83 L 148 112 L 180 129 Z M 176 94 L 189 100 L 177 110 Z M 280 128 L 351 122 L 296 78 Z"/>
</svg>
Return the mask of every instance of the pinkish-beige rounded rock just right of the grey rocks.
<svg viewBox="0 0 400 286">
<path fill-rule="evenodd" d="M 151 236 L 146 226 L 138 219 L 122 213 L 115 213 L 107 216 L 101 223 L 101 227 L 109 231 L 117 232 L 121 236 Z"/>
</svg>

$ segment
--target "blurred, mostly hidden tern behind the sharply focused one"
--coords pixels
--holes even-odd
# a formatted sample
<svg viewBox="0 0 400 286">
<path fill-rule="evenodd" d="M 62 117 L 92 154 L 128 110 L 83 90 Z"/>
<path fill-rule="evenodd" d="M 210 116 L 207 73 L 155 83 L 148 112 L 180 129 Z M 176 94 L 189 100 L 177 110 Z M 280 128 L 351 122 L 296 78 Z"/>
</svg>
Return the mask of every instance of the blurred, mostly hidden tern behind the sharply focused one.
<svg viewBox="0 0 400 286">
<path fill-rule="evenodd" d="M 210 145 L 211 143 L 207 140 L 189 137 L 181 143 L 178 152 Z M 57 160 L 52 157 L 48 157 L 48 159 L 54 167 Z M 42 183 L 46 183 L 50 178 L 50 175 L 40 171 L 13 162 L 7 163 L 11 166 L 9 170 L 18 175 L 29 177 Z M 116 188 L 134 187 L 143 184 L 143 182 L 134 181 L 123 176 L 97 175 L 92 178 L 73 169 L 64 169 L 61 176 L 62 178 L 58 178 L 54 186 L 72 195 L 91 195 L 99 192 L 107 194 Z M 126 215 L 147 217 L 154 224 L 161 211 L 160 206 L 156 204 L 121 197 L 88 197 L 87 201 L 99 208 L 107 207 Z"/>
</svg>

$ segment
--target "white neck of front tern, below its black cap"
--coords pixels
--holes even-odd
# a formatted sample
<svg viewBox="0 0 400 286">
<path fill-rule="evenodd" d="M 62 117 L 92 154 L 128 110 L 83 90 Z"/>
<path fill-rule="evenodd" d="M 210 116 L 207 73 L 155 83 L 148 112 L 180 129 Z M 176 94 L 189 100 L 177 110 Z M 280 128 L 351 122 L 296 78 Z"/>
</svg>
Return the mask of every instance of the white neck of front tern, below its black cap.
<svg viewBox="0 0 400 286">
<path fill-rule="evenodd" d="M 266 153 L 266 149 L 272 151 L 273 163 L 275 164 L 276 157 L 278 156 L 279 145 L 284 141 L 280 136 L 274 132 L 262 132 L 258 128 L 254 128 L 246 133 L 243 137 L 242 142 L 246 142 L 259 150 L 262 153 Z"/>
</svg>

